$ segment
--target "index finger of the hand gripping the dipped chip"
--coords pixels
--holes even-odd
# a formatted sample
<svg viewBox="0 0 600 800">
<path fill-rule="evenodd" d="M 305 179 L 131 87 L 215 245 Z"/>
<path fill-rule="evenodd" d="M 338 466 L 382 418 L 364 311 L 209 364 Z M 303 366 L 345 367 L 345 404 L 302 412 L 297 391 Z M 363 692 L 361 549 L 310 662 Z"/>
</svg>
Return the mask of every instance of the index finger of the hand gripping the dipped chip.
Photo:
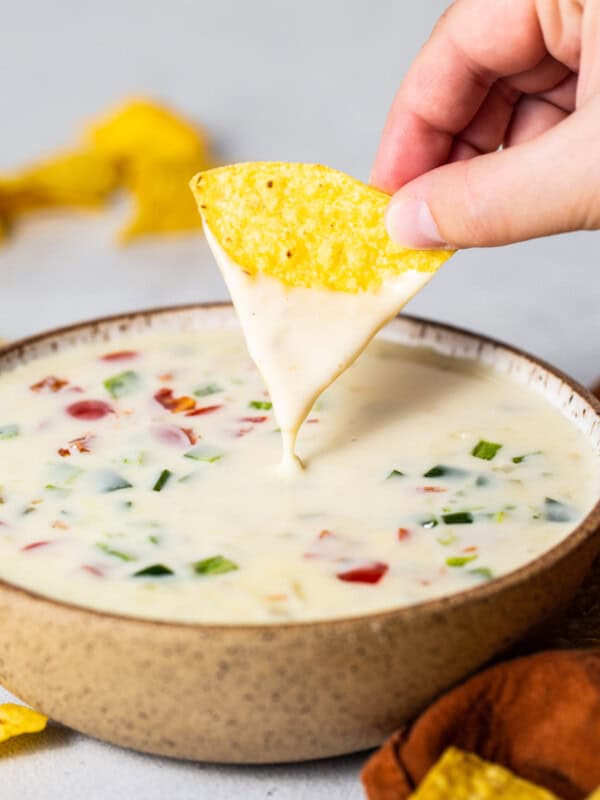
<svg viewBox="0 0 600 800">
<path fill-rule="evenodd" d="M 534 0 L 458 0 L 398 90 L 371 183 L 391 194 L 445 163 L 495 81 L 531 69 L 546 52 Z"/>
</svg>

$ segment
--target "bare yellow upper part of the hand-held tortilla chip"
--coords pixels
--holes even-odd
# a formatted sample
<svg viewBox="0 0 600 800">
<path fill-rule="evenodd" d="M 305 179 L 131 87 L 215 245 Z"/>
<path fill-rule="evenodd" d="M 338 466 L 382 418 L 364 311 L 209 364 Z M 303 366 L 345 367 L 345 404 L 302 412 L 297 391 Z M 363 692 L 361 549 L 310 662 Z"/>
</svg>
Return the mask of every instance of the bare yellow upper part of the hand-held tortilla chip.
<svg viewBox="0 0 600 800">
<path fill-rule="evenodd" d="M 394 244 L 384 224 L 389 196 L 317 164 L 233 164 L 190 186 L 225 252 L 249 274 L 289 286 L 375 289 L 409 269 L 434 272 L 452 255 Z"/>
</svg>

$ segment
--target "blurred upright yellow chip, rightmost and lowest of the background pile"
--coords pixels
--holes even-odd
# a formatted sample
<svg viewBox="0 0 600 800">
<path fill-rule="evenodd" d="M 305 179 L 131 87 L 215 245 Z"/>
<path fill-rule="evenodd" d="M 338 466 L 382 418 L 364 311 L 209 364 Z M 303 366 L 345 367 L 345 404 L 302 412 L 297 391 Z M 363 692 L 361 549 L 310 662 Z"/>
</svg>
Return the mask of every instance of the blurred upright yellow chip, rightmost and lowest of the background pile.
<svg viewBox="0 0 600 800">
<path fill-rule="evenodd" d="M 120 232 L 122 242 L 145 234 L 197 231 L 200 219 L 188 184 L 200 166 L 193 161 L 145 159 L 132 165 L 127 187 L 133 197 L 132 219 Z"/>
</svg>

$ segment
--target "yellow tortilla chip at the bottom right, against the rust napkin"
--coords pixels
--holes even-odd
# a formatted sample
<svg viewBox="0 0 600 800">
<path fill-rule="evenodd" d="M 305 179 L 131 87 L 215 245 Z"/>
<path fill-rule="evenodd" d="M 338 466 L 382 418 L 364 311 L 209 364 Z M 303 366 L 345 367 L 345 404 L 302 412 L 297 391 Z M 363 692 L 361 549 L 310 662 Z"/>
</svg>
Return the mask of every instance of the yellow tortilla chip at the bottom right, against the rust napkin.
<svg viewBox="0 0 600 800">
<path fill-rule="evenodd" d="M 510 770 L 449 747 L 429 770 L 411 800 L 558 800 Z"/>
</svg>

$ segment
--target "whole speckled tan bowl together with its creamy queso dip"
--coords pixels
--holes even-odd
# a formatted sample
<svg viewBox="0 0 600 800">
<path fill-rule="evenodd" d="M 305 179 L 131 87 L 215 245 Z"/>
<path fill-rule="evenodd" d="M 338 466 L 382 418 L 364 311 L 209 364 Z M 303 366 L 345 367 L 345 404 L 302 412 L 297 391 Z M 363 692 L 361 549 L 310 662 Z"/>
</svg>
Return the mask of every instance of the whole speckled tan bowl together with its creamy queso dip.
<svg viewBox="0 0 600 800">
<path fill-rule="evenodd" d="M 141 751 L 371 747 L 565 608 L 600 551 L 583 388 L 389 323 L 278 466 L 229 305 L 0 351 L 0 682 Z"/>
</svg>

